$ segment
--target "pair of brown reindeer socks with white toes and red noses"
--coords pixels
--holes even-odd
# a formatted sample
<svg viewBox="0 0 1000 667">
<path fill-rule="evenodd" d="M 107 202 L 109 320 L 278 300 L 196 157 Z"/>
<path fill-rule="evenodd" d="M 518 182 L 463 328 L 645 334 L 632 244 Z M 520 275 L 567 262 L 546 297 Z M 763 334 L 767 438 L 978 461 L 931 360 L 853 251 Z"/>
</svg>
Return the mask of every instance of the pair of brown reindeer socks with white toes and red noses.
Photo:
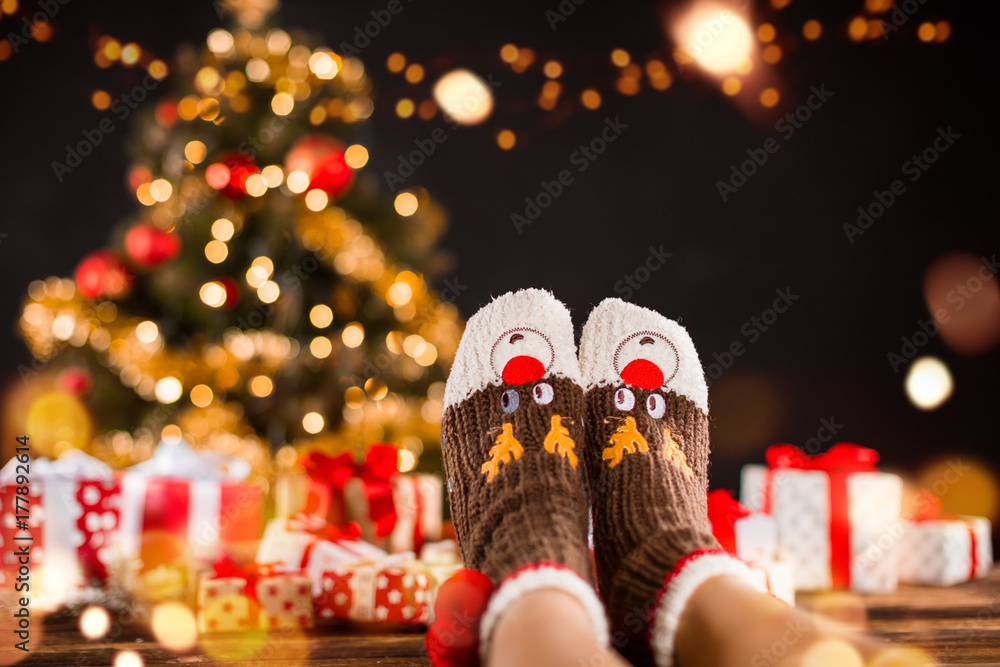
<svg viewBox="0 0 1000 667">
<path fill-rule="evenodd" d="M 669 665 L 697 586 L 720 574 L 753 581 L 708 529 L 708 389 L 676 322 L 607 299 L 578 358 L 562 303 L 542 290 L 505 294 L 469 320 L 444 402 L 459 545 L 497 584 L 483 655 L 514 600 L 557 588 L 630 660 Z"/>
</svg>

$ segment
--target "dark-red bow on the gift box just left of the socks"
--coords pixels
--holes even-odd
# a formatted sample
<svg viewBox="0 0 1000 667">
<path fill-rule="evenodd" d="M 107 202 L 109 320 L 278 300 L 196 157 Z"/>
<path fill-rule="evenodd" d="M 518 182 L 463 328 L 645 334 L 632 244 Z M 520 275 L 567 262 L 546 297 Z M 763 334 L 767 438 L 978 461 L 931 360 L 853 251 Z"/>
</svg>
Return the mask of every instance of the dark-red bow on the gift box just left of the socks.
<svg viewBox="0 0 1000 667">
<path fill-rule="evenodd" d="M 375 524 L 376 537 L 385 537 L 396 526 L 396 505 L 392 498 L 392 480 L 399 474 L 396 468 L 398 454 L 392 445 L 375 444 L 368 450 L 364 461 L 358 463 L 351 452 L 327 456 L 309 452 L 301 461 L 306 474 L 319 484 L 336 493 L 341 504 L 344 486 L 357 477 L 364 485 L 368 514 Z M 314 510 L 307 505 L 306 511 Z"/>
</svg>

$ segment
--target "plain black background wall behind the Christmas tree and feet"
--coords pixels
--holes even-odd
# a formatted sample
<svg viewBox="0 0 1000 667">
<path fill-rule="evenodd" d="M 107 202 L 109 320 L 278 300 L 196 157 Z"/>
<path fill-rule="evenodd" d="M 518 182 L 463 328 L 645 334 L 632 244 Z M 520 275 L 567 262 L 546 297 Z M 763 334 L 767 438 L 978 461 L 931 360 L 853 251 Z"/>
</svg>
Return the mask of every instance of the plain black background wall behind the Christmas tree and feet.
<svg viewBox="0 0 1000 667">
<path fill-rule="evenodd" d="M 412 150 L 415 139 L 435 127 L 447 129 L 448 140 L 406 185 L 425 186 L 450 212 L 443 246 L 455 262 L 441 279 L 465 286 L 456 300 L 463 315 L 493 295 L 539 286 L 567 302 L 579 327 L 592 305 L 621 296 L 616 282 L 645 262 L 649 246 L 662 245 L 672 257 L 632 300 L 683 318 L 707 365 L 733 341 L 748 343 L 743 324 L 772 304 L 776 289 L 788 288 L 799 296 L 792 308 L 713 384 L 713 484 L 734 487 L 739 466 L 762 460 L 767 445 L 802 445 L 817 435 L 822 419 L 832 418 L 839 428 L 830 442 L 874 447 L 888 468 L 917 475 L 944 458 L 978 461 L 987 483 L 969 490 L 994 493 L 982 498 L 981 511 L 995 510 L 988 476 L 1000 460 L 1000 352 L 963 358 L 931 340 L 922 352 L 945 360 L 955 379 L 951 400 L 932 412 L 910 404 L 905 370 L 893 372 L 886 358 L 928 317 L 922 282 L 935 258 L 950 250 L 976 256 L 1000 250 L 992 8 L 986 15 L 983 4 L 929 0 L 888 41 L 859 44 L 847 39 L 846 24 L 861 13 L 860 1 L 796 0 L 780 12 L 763 3 L 754 23 L 770 20 L 779 40 L 788 40 L 775 69 L 783 91 L 776 109 L 749 118 L 716 83 L 678 78 L 665 92 L 604 92 L 599 110 L 578 110 L 546 128 L 532 101 L 540 62 L 562 60 L 567 85 L 588 78 L 607 84 L 613 81 L 612 48 L 625 48 L 640 61 L 651 51 L 669 53 L 662 6 L 589 0 L 552 31 L 544 12 L 557 0 L 403 2 L 403 13 L 361 54 L 376 84 L 378 109 L 369 124 L 366 169 L 395 169 L 397 156 Z M 371 20 L 371 10 L 384 7 L 381 0 L 287 2 L 277 22 L 286 29 L 307 27 L 336 48 Z M 27 1 L 21 13 L 34 9 Z M 823 23 L 824 34 L 803 44 L 797 35 L 810 18 Z M 940 19 L 951 21 L 951 38 L 918 42 L 917 25 Z M 0 31 L 19 29 L 19 21 L 4 17 Z M 13 327 L 29 281 L 72 275 L 79 258 L 103 246 L 136 206 L 124 187 L 124 127 L 63 183 L 50 166 L 63 158 L 67 143 L 109 113 L 91 106 L 93 90 L 114 96 L 139 75 L 117 66 L 99 70 L 93 41 L 102 34 L 134 40 L 169 61 L 179 43 L 203 44 L 211 29 L 226 23 L 207 0 L 70 0 L 53 25 L 48 43 L 30 43 L 0 63 L 0 231 L 8 234 L 0 242 L 0 376 L 10 382 L 17 365 L 29 360 Z M 500 62 L 507 42 L 539 54 L 530 77 Z M 494 117 L 485 126 L 457 129 L 440 117 L 395 118 L 395 100 L 413 90 L 385 69 L 394 51 L 425 65 L 444 56 L 450 66 L 494 73 L 502 82 Z M 781 138 L 775 119 L 821 84 L 833 97 L 791 139 Z M 628 128 L 586 172 L 574 172 L 575 182 L 537 221 L 516 233 L 511 214 L 523 212 L 525 197 L 535 196 L 542 180 L 572 168 L 570 154 L 597 136 L 606 117 L 620 117 Z M 905 178 L 902 164 L 931 144 L 938 127 L 948 126 L 961 139 L 918 182 L 907 182 L 907 192 L 855 244 L 848 243 L 842 225 L 855 220 L 857 207 L 872 201 L 873 190 Z M 519 132 L 514 150 L 497 148 L 501 127 Z M 715 182 L 770 136 L 780 150 L 723 203 Z"/>
</svg>

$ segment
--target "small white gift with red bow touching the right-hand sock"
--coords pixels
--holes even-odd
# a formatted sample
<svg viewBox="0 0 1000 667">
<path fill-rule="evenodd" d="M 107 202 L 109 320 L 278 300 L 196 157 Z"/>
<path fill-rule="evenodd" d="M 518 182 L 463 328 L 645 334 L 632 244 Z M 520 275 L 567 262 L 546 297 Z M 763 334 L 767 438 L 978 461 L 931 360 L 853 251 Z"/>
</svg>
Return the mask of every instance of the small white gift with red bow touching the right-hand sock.
<svg viewBox="0 0 1000 667">
<path fill-rule="evenodd" d="M 774 517 L 751 512 L 728 491 L 708 494 L 708 520 L 722 548 L 748 563 L 771 562 L 778 555 L 778 527 Z"/>
</svg>

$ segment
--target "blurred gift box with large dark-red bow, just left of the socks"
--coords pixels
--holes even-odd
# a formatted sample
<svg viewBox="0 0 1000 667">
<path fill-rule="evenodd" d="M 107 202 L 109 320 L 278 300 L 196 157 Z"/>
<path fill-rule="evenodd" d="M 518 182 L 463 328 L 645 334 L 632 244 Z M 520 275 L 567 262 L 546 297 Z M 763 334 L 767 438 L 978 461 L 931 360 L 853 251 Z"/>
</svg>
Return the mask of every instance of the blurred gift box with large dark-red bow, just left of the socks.
<svg viewBox="0 0 1000 667">
<path fill-rule="evenodd" d="M 361 462 L 351 452 L 310 452 L 299 471 L 276 480 L 276 514 L 305 512 L 336 526 L 353 521 L 372 544 L 394 553 L 419 552 L 425 541 L 441 539 L 441 478 L 401 474 L 397 456 L 395 447 L 384 444 L 372 445 Z"/>
</svg>

